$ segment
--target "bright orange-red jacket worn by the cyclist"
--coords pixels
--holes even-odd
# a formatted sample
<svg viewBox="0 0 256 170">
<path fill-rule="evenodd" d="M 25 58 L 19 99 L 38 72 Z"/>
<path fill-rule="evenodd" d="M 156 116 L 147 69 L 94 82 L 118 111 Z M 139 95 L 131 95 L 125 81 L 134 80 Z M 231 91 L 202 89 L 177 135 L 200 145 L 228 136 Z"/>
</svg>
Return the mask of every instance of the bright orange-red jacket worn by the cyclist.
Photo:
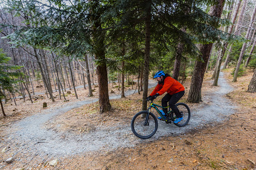
<svg viewBox="0 0 256 170">
<path fill-rule="evenodd" d="M 150 96 L 155 95 L 158 93 L 159 95 L 163 95 L 165 92 L 167 92 L 170 95 L 176 94 L 177 92 L 184 91 L 184 86 L 175 80 L 174 78 L 171 78 L 170 76 L 167 76 L 164 79 L 164 82 L 159 84 L 155 87 L 155 89 L 151 92 Z"/>
</svg>

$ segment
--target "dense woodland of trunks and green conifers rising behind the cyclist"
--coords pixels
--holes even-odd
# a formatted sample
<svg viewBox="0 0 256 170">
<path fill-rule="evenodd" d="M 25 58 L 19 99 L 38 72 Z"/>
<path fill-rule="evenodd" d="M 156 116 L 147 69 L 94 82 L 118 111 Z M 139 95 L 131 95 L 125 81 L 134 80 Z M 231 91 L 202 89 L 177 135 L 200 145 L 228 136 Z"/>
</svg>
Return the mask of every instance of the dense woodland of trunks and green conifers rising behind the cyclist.
<svg viewBox="0 0 256 170">
<path fill-rule="evenodd" d="M 99 91 L 109 111 L 109 82 L 148 95 L 148 78 L 164 70 L 181 83 L 192 76 L 187 102 L 201 101 L 205 71 L 221 64 L 255 70 L 255 1 L 2 1 L 1 106 L 35 99 L 43 87 L 65 100 L 82 84 Z M 255 73 L 255 72 L 254 72 Z M 255 92 L 255 74 L 248 92 Z M 146 101 L 142 102 L 146 109 Z"/>
</svg>

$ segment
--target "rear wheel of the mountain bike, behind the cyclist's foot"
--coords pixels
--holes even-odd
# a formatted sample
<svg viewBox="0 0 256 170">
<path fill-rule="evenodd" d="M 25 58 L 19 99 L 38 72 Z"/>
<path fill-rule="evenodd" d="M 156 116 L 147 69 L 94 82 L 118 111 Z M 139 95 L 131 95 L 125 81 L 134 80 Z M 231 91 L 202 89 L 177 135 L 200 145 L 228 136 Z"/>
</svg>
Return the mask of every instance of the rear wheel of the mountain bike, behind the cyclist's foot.
<svg viewBox="0 0 256 170">
<path fill-rule="evenodd" d="M 177 103 L 176 107 L 179 109 L 181 115 L 183 116 L 183 120 L 175 125 L 179 126 L 179 127 L 183 127 L 183 126 L 187 125 L 190 120 L 190 116 L 191 116 L 190 109 L 189 109 L 188 105 L 185 103 Z M 171 118 L 173 120 L 176 120 L 176 115 L 174 112 L 171 113 Z"/>
</svg>

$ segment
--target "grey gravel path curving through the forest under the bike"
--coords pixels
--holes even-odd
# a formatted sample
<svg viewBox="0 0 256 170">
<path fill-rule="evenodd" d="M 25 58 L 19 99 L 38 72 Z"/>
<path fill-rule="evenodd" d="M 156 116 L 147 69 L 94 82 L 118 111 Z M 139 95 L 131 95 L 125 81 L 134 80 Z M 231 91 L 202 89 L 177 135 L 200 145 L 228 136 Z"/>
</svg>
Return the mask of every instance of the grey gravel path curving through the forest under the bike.
<svg viewBox="0 0 256 170">
<path fill-rule="evenodd" d="M 155 85 L 155 84 L 152 84 Z M 16 132 L 10 135 L 11 141 L 22 143 L 17 152 L 35 151 L 39 155 L 68 156 L 89 151 L 112 151 L 120 147 L 133 147 L 138 143 L 154 141 L 160 137 L 185 134 L 194 129 L 200 129 L 205 124 L 221 122 L 234 113 L 234 105 L 224 95 L 232 91 L 232 87 L 220 74 L 218 90 L 203 97 L 207 101 L 201 109 L 192 110 L 191 121 L 184 128 L 178 128 L 174 124 L 165 124 L 159 121 L 159 128 L 154 137 L 142 140 L 131 133 L 130 122 L 122 126 L 112 128 L 98 128 L 92 133 L 76 135 L 73 133 L 56 133 L 44 128 L 47 121 L 53 121 L 54 117 L 84 104 L 96 102 L 97 99 L 69 103 L 61 108 L 52 108 L 40 114 L 24 118 L 12 128 Z M 130 91 L 132 94 L 133 91 Z M 127 94 L 126 94 L 127 95 Z M 116 99 L 112 96 L 110 99 Z"/>
</svg>

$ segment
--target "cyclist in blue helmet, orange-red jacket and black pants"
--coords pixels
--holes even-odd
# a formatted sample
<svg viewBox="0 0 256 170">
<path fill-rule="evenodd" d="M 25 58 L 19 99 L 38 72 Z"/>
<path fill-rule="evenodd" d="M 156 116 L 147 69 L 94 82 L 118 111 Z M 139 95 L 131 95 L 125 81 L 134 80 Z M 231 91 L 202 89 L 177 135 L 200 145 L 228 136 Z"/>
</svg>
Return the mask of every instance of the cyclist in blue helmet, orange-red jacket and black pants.
<svg viewBox="0 0 256 170">
<path fill-rule="evenodd" d="M 176 115 L 176 120 L 174 121 L 174 123 L 179 123 L 181 120 L 183 120 L 183 117 L 175 104 L 184 95 L 184 86 L 174 78 L 171 78 L 170 75 L 165 74 L 164 71 L 158 71 L 155 74 L 154 78 L 156 78 L 156 80 L 158 81 L 158 85 L 151 92 L 150 96 L 147 97 L 147 100 L 149 101 L 155 99 L 159 95 L 163 95 L 165 92 L 167 92 L 167 94 L 162 99 L 162 107 L 167 107 L 167 103 L 169 102 L 170 108 L 172 109 L 172 111 L 174 111 Z M 163 112 L 164 114 L 166 114 L 167 108 L 163 108 Z M 158 118 L 162 120 L 162 117 Z"/>
</svg>

